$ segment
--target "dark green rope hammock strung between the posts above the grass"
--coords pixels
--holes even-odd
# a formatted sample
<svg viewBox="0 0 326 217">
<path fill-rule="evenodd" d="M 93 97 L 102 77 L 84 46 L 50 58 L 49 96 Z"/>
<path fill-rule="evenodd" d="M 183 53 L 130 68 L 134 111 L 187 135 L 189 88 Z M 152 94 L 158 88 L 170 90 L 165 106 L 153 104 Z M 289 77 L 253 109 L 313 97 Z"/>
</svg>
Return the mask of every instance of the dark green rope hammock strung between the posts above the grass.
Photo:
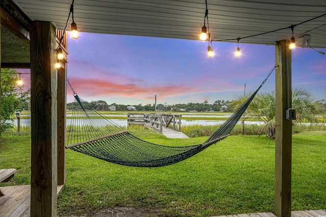
<svg viewBox="0 0 326 217">
<path fill-rule="evenodd" d="M 74 93 L 75 102 L 71 123 L 67 128 L 68 145 L 66 148 L 104 161 L 132 167 L 161 167 L 175 164 L 229 136 L 244 111 L 274 70 L 275 67 L 246 102 L 204 143 L 191 146 L 153 144 L 131 135 L 123 127 L 118 126 L 80 99 L 67 80 Z"/>
</svg>

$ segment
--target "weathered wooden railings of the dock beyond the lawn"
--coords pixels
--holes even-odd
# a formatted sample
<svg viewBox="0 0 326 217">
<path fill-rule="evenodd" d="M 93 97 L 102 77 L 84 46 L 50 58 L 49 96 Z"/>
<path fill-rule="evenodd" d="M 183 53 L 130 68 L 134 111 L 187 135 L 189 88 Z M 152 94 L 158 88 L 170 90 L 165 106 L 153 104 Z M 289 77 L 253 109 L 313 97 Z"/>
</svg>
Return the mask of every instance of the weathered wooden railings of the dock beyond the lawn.
<svg viewBox="0 0 326 217">
<path fill-rule="evenodd" d="M 181 132 L 181 114 L 168 113 L 128 113 L 128 126 L 144 125 L 146 128 L 162 132 L 162 127 Z"/>
</svg>

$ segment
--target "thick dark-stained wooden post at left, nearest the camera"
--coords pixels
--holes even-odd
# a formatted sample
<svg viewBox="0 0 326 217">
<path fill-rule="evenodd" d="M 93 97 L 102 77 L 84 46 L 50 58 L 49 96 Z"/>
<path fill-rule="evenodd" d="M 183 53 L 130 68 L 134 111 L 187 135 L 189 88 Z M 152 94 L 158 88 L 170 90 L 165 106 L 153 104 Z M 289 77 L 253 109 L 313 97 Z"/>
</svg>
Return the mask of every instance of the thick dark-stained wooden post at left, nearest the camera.
<svg viewBox="0 0 326 217">
<path fill-rule="evenodd" d="M 57 216 L 56 28 L 30 25 L 31 50 L 31 216 Z"/>
</svg>

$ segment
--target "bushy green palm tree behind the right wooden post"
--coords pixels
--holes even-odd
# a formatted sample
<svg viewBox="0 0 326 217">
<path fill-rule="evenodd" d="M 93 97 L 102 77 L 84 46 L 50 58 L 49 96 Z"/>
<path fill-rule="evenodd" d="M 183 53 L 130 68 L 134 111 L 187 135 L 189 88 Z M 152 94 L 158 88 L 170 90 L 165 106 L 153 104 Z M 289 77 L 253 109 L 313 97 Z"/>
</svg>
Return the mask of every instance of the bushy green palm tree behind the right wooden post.
<svg viewBox="0 0 326 217">
<path fill-rule="evenodd" d="M 246 98 L 236 96 L 231 103 L 233 108 L 240 106 Z M 292 90 L 292 108 L 296 112 L 296 120 L 292 124 L 301 122 L 320 122 L 318 116 L 325 115 L 325 107 L 322 103 L 315 101 L 312 94 L 305 88 L 294 88 Z M 261 132 L 266 132 L 268 138 L 275 139 L 275 91 L 257 94 L 247 109 L 246 116 L 255 120 L 263 121 Z"/>
</svg>

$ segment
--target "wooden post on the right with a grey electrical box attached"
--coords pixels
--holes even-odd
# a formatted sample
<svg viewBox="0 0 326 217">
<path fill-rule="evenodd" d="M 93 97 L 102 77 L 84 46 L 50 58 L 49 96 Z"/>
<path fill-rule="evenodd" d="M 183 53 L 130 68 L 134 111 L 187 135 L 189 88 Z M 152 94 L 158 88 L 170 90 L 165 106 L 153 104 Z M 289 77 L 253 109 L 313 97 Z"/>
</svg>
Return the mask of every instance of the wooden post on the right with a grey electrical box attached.
<svg viewBox="0 0 326 217">
<path fill-rule="evenodd" d="M 285 119 L 291 107 L 291 50 L 286 40 L 277 42 L 276 65 L 276 134 L 275 134 L 275 214 L 291 216 L 292 121 Z"/>
</svg>

